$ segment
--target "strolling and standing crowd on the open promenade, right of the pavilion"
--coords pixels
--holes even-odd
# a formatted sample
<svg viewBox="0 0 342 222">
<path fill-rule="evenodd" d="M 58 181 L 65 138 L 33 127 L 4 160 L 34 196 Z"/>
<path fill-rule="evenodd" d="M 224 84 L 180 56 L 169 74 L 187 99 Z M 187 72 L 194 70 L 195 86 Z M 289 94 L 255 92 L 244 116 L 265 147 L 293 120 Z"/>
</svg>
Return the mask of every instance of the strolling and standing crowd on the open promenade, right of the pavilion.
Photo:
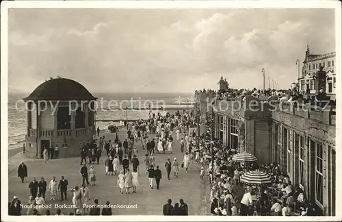
<svg viewBox="0 0 342 222">
<path fill-rule="evenodd" d="M 94 164 L 104 164 L 105 175 L 117 176 L 117 185 L 121 194 L 136 193 L 137 186 L 139 186 L 138 177 L 140 176 L 140 161 L 137 158 L 138 143 L 142 145 L 142 150 L 139 151 L 146 151 L 142 161 L 145 164 L 144 170 L 146 171 L 146 174 L 148 174 L 150 188 L 156 187 L 159 189 L 162 175 L 159 166 L 155 164 L 155 156 L 153 154 L 172 153 L 172 143 L 174 140 L 172 132 L 176 133 L 176 139 L 178 140 L 181 139 L 181 134 L 189 132 L 189 130 L 191 132 L 192 127 L 194 127 L 194 123 L 192 122 L 193 117 L 194 112 L 190 112 L 189 114 L 186 112 L 183 112 L 183 114 L 180 112 L 176 112 L 176 114 L 167 113 L 164 116 L 160 113 L 154 113 L 147 120 L 139 120 L 135 123 L 125 123 L 125 127 L 127 127 L 127 137 L 124 138 L 123 142 L 121 142 L 118 134 L 115 134 L 113 140 L 108 140 L 105 136 L 100 136 L 98 133 L 98 136 L 100 136 L 99 138 L 89 140 L 81 147 L 80 165 L 82 165 L 82 167 L 79 171 L 82 177 L 81 187 L 75 186 L 73 188 L 68 188 L 68 180 L 63 176 L 59 182 L 53 177 L 49 183 L 45 182 L 44 178 L 41 178 L 40 182 L 37 182 L 36 178 L 33 178 L 28 186 L 31 193 L 31 196 L 27 201 L 27 206 L 29 206 L 27 209 L 29 210 L 24 214 L 51 214 L 49 210 L 46 210 L 45 212 L 44 208 L 40 208 L 40 206 L 47 204 L 47 199 L 50 199 L 51 201 L 56 200 L 58 198 L 57 195 L 60 196 L 60 201 L 64 201 L 67 199 L 68 193 L 71 193 L 73 195 L 73 206 L 75 206 L 75 211 L 73 211 L 72 214 L 92 215 L 92 209 L 83 208 L 82 206 L 83 204 L 88 204 L 90 201 L 90 186 L 96 186 L 97 177 Z M 114 128 L 116 129 L 116 132 L 118 132 L 118 128 Z M 112 132 L 112 129 L 109 131 Z M 156 134 L 156 136 L 153 134 Z M 155 138 L 153 138 L 154 136 Z M 190 153 L 192 143 L 189 140 L 189 136 L 185 136 L 185 140 L 187 141 L 187 150 Z M 106 156 L 105 161 L 101 159 L 103 154 Z M 88 169 L 87 162 L 90 165 L 90 169 Z M 133 168 L 132 170 L 130 169 L 130 165 Z M 172 162 L 170 158 L 168 158 L 165 166 L 163 166 L 166 168 L 168 180 L 170 180 L 171 173 L 173 173 L 174 177 L 178 177 L 180 165 L 180 162 L 176 158 L 174 158 Z M 187 155 L 187 153 L 183 159 L 182 167 L 184 167 L 186 171 L 189 167 L 189 155 Z M 18 177 L 21 177 L 23 183 L 25 177 L 27 177 L 27 166 L 23 162 L 21 162 L 18 167 Z M 49 190 L 49 197 L 45 197 L 47 190 Z M 21 215 L 23 208 L 21 204 L 18 204 L 19 202 L 21 203 L 21 201 L 15 197 L 14 200 L 9 203 L 10 215 Z M 97 213 L 98 212 L 96 212 L 96 214 Z M 57 209 L 56 214 L 62 214 L 61 210 Z M 102 212 L 102 214 L 107 215 L 109 212 Z"/>
</svg>

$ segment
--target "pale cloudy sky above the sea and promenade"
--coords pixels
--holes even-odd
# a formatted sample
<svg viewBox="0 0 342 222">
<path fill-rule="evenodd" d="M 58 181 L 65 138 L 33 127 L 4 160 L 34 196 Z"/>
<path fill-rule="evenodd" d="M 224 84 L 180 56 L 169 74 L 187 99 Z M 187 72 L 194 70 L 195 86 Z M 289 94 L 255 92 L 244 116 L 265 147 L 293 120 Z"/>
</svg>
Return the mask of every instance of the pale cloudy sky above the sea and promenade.
<svg viewBox="0 0 342 222">
<path fill-rule="evenodd" d="M 30 92 L 49 77 L 91 92 L 193 92 L 289 88 L 306 43 L 335 51 L 334 10 L 11 9 L 9 88 Z M 147 86 L 146 86 L 147 85 Z M 144 87 L 146 86 L 146 87 Z"/>
</svg>

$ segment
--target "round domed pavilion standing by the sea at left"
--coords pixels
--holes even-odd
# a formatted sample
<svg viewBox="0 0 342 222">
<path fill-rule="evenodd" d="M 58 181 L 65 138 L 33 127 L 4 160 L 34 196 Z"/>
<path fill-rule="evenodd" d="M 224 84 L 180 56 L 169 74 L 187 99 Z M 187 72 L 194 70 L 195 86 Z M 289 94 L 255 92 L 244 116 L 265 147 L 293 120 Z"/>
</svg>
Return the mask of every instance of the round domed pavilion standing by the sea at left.
<svg viewBox="0 0 342 222">
<path fill-rule="evenodd" d="M 59 148 L 59 158 L 79 156 L 95 132 L 95 98 L 72 79 L 50 79 L 28 97 L 25 154 L 42 158 L 44 147 Z"/>
</svg>

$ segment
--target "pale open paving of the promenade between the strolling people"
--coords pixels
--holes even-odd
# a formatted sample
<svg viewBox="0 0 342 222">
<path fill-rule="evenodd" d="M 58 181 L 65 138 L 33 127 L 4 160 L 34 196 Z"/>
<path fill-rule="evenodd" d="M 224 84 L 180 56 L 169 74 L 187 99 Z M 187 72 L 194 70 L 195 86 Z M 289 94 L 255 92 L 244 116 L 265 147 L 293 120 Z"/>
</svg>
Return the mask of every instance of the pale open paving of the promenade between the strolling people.
<svg viewBox="0 0 342 222">
<path fill-rule="evenodd" d="M 118 135 L 120 140 L 124 140 L 126 136 L 126 130 L 121 130 Z M 107 139 L 114 139 L 114 134 L 105 134 Z M 155 135 L 149 135 L 149 138 L 154 138 Z M 113 214 L 121 215 L 161 215 L 162 206 L 166 203 L 168 198 L 171 198 L 173 203 L 184 199 L 185 203 L 189 206 L 189 215 L 205 215 L 207 214 L 207 199 L 206 194 L 209 192 L 208 182 L 200 182 L 199 180 L 199 167 L 193 162 L 190 164 L 189 173 L 185 173 L 185 169 L 180 167 L 179 177 L 173 177 L 171 180 L 167 180 L 166 170 L 164 164 L 167 158 L 172 160 L 177 158 L 181 163 L 183 160 L 183 153 L 180 151 L 180 140 L 176 140 L 174 137 L 174 152 L 166 154 L 154 154 L 156 158 L 156 164 L 159 165 L 163 178 L 161 179 L 160 189 L 150 189 L 148 186 L 148 178 L 144 172 L 144 162 L 142 158 L 146 153 L 146 150 L 142 150 L 142 145 L 138 143 L 138 159 L 140 160 L 140 186 L 137 188 L 135 194 L 120 194 L 117 186 L 117 177 L 114 175 L 105 175 L 105 156 L 102 157 L 100 164 L 95 164 L 96 170 L 96 186 L 90 187 L 90 203 L 93 203 L 94 197 L 99 199 L 99 204 L 104 204 L 105 201 L 110 201 L 111 204 L 137 204 L 137 209 L 113 209 Z M 27 164 L 29 177 L 25 184 L 21 183 L 20 178 L 17 177 L 16 167 L 22 160 L 23 154 L 18 154 L 14 158 L 9 160 L 9 198 L 12 199 L 14 195 L 26 203 L 29 197 L 29 181 L 32 177 L 36 177 L 36 180 L 40 180 L 40 177 L 44 177 L 47 183 L 53 176 L 60 180 L 60 177 L 64 175 L 69 182 L 68 188 L 74 186 L 81 186 L 80 170 L 80 158 L 66 158 L 51 160 L 51 162 L 44 164 L 43 160 L 24 160 Z M 120 166 L 120 168 L 122 168 Z M 120 169 L 119 168 L 119 169 Z M 132 167 L 130 167 L 132 169 Z M 89 166 L 88 166 L 89 169 Z M 55 213 L 55 204 L 71 204 L 73 197 L 72 192 L 68 192 L 67 201 L 49 201 L 49 193 L 47 191 L 47 204 L 52 204 L 51 212 Z M 72 209 L 62 209 L 64 214 L 72 212 Z M 23 210 L 25 214 L 26 209 Z"/>
</svg>

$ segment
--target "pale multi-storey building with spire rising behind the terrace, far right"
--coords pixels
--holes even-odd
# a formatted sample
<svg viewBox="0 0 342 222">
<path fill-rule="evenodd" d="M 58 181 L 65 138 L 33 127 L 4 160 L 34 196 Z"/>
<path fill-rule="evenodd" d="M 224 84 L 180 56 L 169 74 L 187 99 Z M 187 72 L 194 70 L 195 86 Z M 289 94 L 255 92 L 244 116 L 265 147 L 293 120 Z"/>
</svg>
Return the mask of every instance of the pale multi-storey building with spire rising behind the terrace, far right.
<svg viewBox="0 0 342 222">
<path fill-rule="evenodd" d="M 319 66 L 324 67 L 326 71 L 326 93 L 334 98 L 336 93 L 336 72 L 334 66 L 336 53 L 330 52 L 323 55 L 313 54 L 309 47 L 306 49 L 305 58 L 302 66 L 302 75 L 298 79 L 300 90 L 315 94 L 317 86 L 315 84 L 315 74 L 319 71 Z"/>
</svg>

